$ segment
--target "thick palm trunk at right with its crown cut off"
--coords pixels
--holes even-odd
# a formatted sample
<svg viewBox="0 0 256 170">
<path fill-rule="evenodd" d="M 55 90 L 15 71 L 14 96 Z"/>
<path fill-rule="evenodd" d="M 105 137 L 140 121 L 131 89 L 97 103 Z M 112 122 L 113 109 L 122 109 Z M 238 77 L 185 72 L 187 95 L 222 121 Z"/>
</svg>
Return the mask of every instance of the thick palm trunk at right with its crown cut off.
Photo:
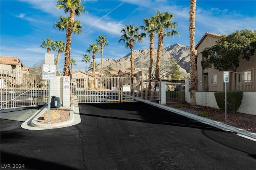
<svg viewBox="0 0 256 170">
<path fill-rule="evenodd" d="M 196 105 L 196 60 L 195 60 L 195 20 L 196 0 L 190 0 L 189 46 L 190 46 L 190 105 Z"/>
</svg>

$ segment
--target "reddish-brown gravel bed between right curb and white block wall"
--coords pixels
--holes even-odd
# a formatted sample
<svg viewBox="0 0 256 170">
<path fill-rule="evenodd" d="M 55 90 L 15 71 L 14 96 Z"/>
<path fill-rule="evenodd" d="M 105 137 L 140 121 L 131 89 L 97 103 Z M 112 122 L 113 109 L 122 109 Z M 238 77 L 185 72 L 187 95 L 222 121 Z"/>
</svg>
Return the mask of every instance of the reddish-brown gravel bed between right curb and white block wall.
<svg viewBox="0 0 256 170">
<path fill-rule="evenodd" d="M 186 111 L 188 113 L 192 113 L 195 115 L 201 114 L 202 112 L 210 113 L 210 115 L 206 118 L 212 119 L 226 125 L 230 125 L 233 127 L 241 128 L 243 130 L 247 130 L 249 132 L 256 133 L 256 115 L 249 115 L 245 113 L 231 113 L 227 112 L 227 119 L 225 120 L 225 111 L 221 109 L 215 109 L 212 107 L 206 106 L 190 106 L 189 103 L 178 104 L 166 104 L 168 107 L 173 107 L 175 109 L 179 109 L 182 111 Z"/>
</svg>

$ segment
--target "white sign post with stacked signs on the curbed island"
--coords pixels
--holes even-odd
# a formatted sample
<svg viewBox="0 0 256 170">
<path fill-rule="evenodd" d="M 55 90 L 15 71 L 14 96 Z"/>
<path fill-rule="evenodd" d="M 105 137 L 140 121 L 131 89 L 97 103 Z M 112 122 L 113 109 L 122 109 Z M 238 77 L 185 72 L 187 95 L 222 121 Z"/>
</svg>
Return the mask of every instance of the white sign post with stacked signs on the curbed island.
<svg viewBox="0 0 256 170">
<path fill-rule="evenodd" d="M 51 103 L 51 79 L 56 79 L 56 65 L 54 65 L 54 54 L 45 54 L 45 64 L 43 65 L 43 79 L 48 81 L 48 122 L 50 122 Z"/>
</svg>

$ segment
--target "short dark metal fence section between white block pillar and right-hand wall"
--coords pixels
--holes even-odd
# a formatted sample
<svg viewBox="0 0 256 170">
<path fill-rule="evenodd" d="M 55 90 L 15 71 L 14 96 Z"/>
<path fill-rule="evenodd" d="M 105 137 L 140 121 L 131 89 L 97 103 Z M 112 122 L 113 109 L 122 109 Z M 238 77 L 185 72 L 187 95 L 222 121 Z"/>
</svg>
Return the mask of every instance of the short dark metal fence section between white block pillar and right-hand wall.
<svg viewBox="0 0 256 170">
<path fill-rule="evenodd" d="M 168 80 L 166 85 L 166 103 L 185 102 L 185 80 Z"/>
</svg>

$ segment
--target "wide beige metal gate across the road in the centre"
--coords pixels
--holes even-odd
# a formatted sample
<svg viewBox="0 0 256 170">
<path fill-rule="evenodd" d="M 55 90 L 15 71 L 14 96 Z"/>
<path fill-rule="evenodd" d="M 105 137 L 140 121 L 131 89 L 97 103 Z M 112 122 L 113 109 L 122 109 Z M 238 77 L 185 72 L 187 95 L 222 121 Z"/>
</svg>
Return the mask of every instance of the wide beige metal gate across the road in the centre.
<svg viewBox="0 0 256 170">
<path fill-rule="evenodd" d="M 125 77 L 72 78 L 78 103 L 159 101 L 159 81 Z"/>
</svg>

